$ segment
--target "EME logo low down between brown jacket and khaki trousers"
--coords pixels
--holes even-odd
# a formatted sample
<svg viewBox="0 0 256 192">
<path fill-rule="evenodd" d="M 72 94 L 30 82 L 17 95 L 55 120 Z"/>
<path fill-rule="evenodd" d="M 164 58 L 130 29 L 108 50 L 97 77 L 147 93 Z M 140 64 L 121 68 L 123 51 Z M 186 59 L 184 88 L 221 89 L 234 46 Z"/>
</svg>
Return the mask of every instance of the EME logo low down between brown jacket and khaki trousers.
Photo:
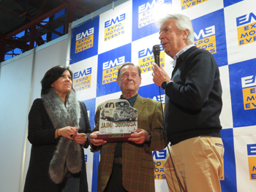
<svg viewBox="0 0 256 192">
<path fill-rule="evenodd" d="M 154 179 L 165 180 L 164 164 L 166 158 L 166 150 L 153 151 L 154 160 Z"/>
</svg>

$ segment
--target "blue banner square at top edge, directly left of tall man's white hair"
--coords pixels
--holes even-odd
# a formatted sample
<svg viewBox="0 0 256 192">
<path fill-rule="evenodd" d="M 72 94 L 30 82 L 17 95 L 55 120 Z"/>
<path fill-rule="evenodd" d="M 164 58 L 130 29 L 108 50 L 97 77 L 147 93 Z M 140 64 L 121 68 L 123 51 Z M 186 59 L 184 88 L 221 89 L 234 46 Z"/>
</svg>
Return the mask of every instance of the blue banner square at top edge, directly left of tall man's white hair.
<svg viewBox="0 0 256 192">
<path fill-rule="evenodd" d="M 132 41 L 155 34 L 159 28 L 155 25 L 158 15 L 157 7 L 170 4 L 171 0 L 132 1 Z"/>
</svg>

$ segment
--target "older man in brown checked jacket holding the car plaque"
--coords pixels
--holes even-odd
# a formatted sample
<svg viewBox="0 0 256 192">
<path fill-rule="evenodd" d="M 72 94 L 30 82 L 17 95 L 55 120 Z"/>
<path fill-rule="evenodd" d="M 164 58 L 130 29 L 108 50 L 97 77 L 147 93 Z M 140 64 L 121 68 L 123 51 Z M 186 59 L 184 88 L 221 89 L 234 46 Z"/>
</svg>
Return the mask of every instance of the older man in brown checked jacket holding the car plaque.
<svg viewBox="0 0 256 192">
<path fill-rule="evenodd" d="M 92 151 L 100 151 L 97 191 L 155 191 L 152 150 L 166 147 L 162 111 L 158 101 L 138 94 L 141 70 L 132 63 L 118 69 L 116 82 L 121 89 L 120 99 L 127 99 L 138 110 L 138 129 L 132 131 L 129 142 L 108 143 L 97 139 L 99 112 L 97 107 L 95 128 L 91 134 Z M 136 132 L 136 133 L 135 133 Z"/>
</svg>

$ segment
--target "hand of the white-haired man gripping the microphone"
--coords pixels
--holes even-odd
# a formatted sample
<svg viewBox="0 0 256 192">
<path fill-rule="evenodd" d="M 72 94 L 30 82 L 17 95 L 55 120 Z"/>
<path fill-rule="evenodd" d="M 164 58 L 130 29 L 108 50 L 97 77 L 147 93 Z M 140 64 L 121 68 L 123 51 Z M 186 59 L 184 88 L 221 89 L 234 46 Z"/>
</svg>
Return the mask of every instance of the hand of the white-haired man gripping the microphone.
<svg viewBox="0 0 256 192">
<path fill-rule="evenodd" d="M 153 63 L 154 69 L 152 72 L 152 76 L 153 76 L 153 81 L 154 83 L 161 87 L 162 86 L 162 82 L 165 81 L 170 81 L 170 77 L 167 74 L 167 72 L 165 72 L 165 69 L 162 69 L 162 66 L 157 66 L 157 64 Z"/>
</svg>

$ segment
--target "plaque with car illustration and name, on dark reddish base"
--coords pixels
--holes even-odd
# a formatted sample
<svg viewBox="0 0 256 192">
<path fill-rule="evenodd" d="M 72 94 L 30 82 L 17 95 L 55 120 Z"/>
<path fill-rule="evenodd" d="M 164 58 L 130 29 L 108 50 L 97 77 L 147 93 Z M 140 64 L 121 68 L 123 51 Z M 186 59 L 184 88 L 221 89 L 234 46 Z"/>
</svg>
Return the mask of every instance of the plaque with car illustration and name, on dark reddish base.
<svg viewBox="0 0 256 192">
<path fill-rule="evenodd" d="M 131 131 L 138 128 L 138 110 L 125 99 L 105 101 L 99 113 L 99 135 L 97 139 L 108 142 L 125 142 Z"/>
</svg>

